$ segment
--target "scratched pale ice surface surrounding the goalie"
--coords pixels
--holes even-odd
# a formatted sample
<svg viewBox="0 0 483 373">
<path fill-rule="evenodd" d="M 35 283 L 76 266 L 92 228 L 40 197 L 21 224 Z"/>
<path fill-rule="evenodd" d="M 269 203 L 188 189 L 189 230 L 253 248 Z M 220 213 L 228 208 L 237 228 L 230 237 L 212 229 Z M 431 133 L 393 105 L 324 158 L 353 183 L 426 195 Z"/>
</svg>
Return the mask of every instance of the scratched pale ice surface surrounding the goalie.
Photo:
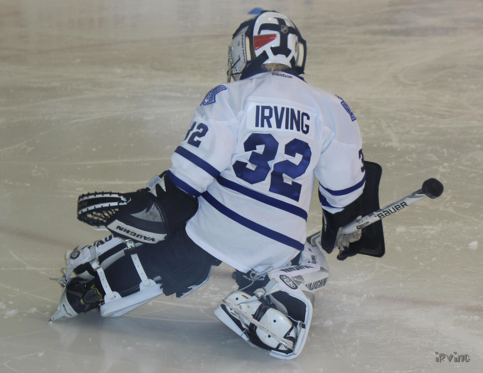
<svg viewBox="0 0 483 373">
<path fill-rule="evenodd" d="M 294 360 L 215 318 L 236 288 L 224 264 L 181 300 L 48 323 L 49 276 L 103 236 L 76 220 L 77 196 L 168 168 L 254 7 L 297 24 L 305 79 L 354 111 L 381 206 L 429 177 L 444 193 L 384 220 L 383 258 L 327 256 Z M 0 372 L 482 372 L 482 118 L 482 0 L 0 0 Z M 314 194 L 309 234 L 320 224 Z"/>
</svg>

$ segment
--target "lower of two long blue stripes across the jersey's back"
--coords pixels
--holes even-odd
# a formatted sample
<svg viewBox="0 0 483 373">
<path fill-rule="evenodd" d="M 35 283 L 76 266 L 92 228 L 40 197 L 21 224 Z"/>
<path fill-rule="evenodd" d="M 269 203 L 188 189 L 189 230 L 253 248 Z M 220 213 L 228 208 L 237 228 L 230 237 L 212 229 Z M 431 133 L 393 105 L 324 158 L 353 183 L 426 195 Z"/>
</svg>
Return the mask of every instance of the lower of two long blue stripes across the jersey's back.
<svg viewBox="0 0 483 373">
<path fill-rule="evenodd" d="M 204 192 L 202 194 L 202 197 L 214 208 L 216 208 L 218 211 L 220 211 L 223 215 L 227 216 L 233 221 L 236 221 L 237 223 L 243 225 L 244 227 L 251 229 L 252 231 L 259 233 L 260 235 L 264 235 L 265 237 L 269 237 L 272 240 L 275 240 L 277 242 L 280 242 L 284 245 L 290 246 L 294 249 L 302 251 L 304 248 L 304 244 L 301 242 L 298 242 L 297 240 L 290 238 L 286 235 L 283 235 L 279 232 L 273 231 L 267 227 L 264 227 L 263 225 L 260 225 L 256 223 L 255 221 L 251 221 L 247 218 L 244 218 L 240 214 L 237 214 L 235 211 L 230 210 L 228 207 L 223 205 L 221 202 L 216 200 L 213 195 L 211 195 L 208 192 Z"/>
</svg>

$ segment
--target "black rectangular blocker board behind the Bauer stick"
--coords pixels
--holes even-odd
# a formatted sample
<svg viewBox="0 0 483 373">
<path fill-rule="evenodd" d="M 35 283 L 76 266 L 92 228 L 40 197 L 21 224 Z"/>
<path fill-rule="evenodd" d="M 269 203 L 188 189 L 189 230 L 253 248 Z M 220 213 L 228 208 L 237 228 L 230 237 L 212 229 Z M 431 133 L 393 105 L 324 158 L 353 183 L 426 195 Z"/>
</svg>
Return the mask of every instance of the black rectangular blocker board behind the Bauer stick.
<svg viewBox="0 0 483 373">
<path fill-rule="evenodd" d="M 363 211 L 361 215 L 367 215 L 378 210 L 379 207 L 379 182 L 383 168 L 374 162 L 364 161 L 366 168 L 366 185 L 362 192 Z M 385 252 L 383 222 L 376 221 L 362 228 L 360 240 L 350 244 L 351 252 L 364 255 L 382 257 Z"/>
</svg>

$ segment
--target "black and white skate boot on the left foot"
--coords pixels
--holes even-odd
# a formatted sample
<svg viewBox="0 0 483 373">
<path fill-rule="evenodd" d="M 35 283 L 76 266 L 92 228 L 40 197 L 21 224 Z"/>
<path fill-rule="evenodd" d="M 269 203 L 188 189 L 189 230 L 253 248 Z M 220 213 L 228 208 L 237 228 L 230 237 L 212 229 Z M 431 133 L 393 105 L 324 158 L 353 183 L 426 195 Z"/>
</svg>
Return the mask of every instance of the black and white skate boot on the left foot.
<svg viewBox="0 0 483 373">
<path fill-rule="evenodd" d="M 103 301 L 103 292 L 96 288 L 94 279 L 74 277 L 64 287 L 57 311 L 50 321 L 61 317 L 73 318 L 81 312 L 97 308 Z"/>
</svg>

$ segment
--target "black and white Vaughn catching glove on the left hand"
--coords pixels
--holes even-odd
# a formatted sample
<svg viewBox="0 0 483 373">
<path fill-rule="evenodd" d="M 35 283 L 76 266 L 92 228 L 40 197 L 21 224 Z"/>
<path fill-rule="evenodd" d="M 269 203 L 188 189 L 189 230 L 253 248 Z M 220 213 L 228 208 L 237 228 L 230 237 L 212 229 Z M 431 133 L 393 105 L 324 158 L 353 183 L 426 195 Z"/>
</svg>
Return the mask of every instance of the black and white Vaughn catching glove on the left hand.
<svg viewBox="0 0 483 373">
<path fill-rule="evenodd" d="M 162 241 L 195 214 L 198 200 L 177 188 L 166 172 L 147 186 L 131 193 L 83 194 L 77 201 L 77 219 L 138 242 Z"/>
</svg>

